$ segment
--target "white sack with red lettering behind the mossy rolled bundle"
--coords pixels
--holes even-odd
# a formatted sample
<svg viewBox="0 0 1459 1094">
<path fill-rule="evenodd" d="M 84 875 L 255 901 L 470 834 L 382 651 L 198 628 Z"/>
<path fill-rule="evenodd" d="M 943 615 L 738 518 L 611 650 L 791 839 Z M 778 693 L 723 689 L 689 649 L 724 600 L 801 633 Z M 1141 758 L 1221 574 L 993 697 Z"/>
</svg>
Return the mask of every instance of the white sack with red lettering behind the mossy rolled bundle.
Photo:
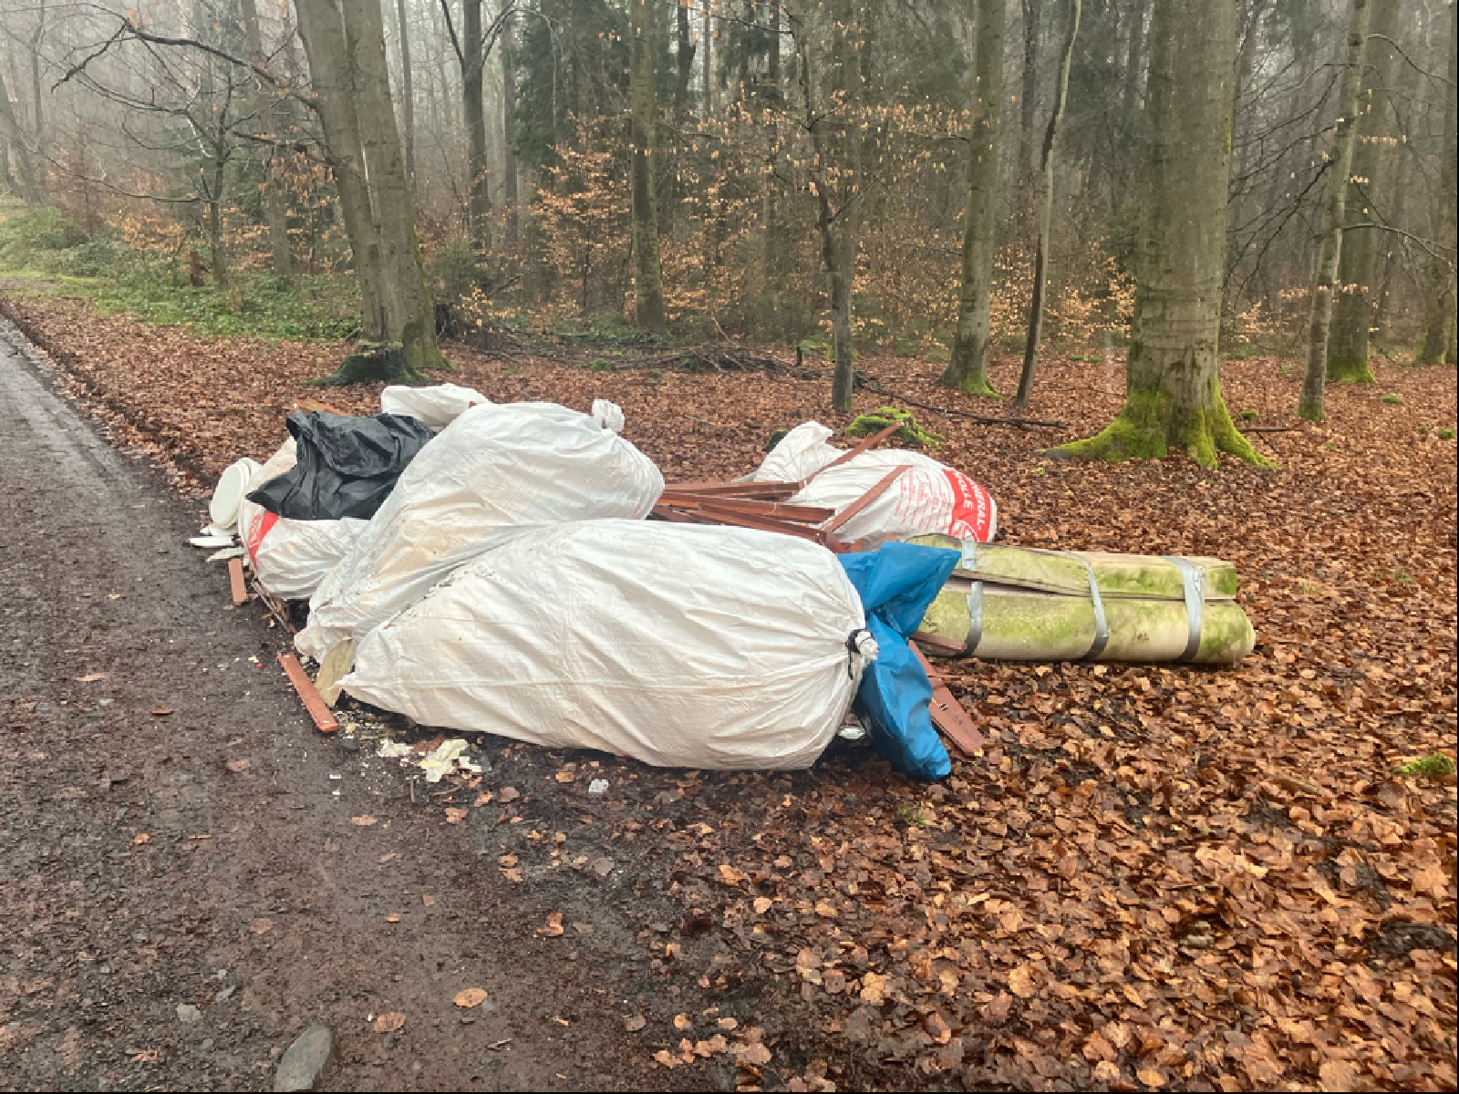
<svg viewBox="0 0 1459 1094">
<path fill-rule="evenodd" d="M 845 452 L 830 443 L 832 432 L 805 422 L 783 438 L 750 481 L 798 483 L 816 476 L 791 497 L 794 505 L 817 505 L 840 512 L 896 467 L 909 467 L 871 505 L 836 529 L 845 541 L 865 537 L 906 540 L 913 535 L 956 535 L 989 543 L 998 534 L 998 503 L 972 478 L 921 452 L 874 449 L 840 467 L 821 468 Z"/>
</svg>

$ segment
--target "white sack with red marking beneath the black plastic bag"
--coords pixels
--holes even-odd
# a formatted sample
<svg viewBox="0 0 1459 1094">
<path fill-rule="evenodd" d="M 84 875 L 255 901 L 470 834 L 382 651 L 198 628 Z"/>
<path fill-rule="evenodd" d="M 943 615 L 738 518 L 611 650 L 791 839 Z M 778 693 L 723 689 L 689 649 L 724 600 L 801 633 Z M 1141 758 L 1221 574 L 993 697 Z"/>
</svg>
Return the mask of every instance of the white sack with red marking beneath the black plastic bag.
<svg viewBox="0 0 1459 1094">
<path fill-rule="evenodd" d="M 244 493 L 282 476 L 298 462 L 293 438 L 283 442 L 260 467 Z M 368 521 L 290 521 L 249 502 L 238 502 L 238 535 L 248 551 L 254 575 L 268 592 L 285 600 L 303 600 L 343 559 Z"/>
</svg>

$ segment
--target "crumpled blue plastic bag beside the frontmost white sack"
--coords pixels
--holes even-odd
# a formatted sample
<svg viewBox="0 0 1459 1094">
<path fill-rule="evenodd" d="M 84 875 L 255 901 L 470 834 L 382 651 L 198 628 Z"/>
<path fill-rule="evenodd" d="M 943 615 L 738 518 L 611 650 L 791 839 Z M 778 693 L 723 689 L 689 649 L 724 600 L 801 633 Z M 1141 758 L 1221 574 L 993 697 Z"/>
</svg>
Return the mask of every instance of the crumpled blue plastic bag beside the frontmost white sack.
<svg viewBox="0 0 1459 1094">
<path fill-rule="evenodd" d="M 867 630 L 881 649 L 861 675 L 852 709 L 877 751 L 897 772 L 929 782 L 943 779 L 953 764 L 928 713 L 932 684 L 907 648 L 907 637 L 922 623 L 961 554 L 887 543 L 878 551 L 837 557 L 861 597 Z"/>
</svg>

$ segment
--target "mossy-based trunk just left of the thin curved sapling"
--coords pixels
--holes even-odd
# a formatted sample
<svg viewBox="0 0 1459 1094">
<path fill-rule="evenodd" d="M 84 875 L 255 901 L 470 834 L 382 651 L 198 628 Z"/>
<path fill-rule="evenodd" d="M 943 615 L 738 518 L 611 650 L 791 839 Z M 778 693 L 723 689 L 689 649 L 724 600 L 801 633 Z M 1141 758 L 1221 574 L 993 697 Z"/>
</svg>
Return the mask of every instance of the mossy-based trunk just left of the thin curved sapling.
<svg viewBox="0 0 1459 1094">
<path fill-rule="evenodd" d="M 957 289 L 957 335 L 941 384 L 970 395 L 996 395 L 988 382 L 994 252 L 998 245 L 998 146 L 1002 114 L 1004 0 L 976 0 L 973 124 L 969 131 L 963 268 Z"/>
</svg>

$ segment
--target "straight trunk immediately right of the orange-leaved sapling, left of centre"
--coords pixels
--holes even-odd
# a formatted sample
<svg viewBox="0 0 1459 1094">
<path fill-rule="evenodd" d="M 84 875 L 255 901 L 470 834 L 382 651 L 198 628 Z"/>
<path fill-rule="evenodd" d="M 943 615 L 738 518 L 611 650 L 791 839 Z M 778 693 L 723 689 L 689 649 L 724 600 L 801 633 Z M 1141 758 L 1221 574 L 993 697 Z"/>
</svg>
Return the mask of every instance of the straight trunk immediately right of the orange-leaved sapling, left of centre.
<svg viewBox="0 0 1459 1094">
<path fill-rule="evenodd" d="M 654 194 L 654 0 L 629 0 L 632 69 L 629 98 L 633 144 L 633 311 L 635 322 L 664 334 L 664 276 L 658 257 L 658 201 Z"/>
</svg>

